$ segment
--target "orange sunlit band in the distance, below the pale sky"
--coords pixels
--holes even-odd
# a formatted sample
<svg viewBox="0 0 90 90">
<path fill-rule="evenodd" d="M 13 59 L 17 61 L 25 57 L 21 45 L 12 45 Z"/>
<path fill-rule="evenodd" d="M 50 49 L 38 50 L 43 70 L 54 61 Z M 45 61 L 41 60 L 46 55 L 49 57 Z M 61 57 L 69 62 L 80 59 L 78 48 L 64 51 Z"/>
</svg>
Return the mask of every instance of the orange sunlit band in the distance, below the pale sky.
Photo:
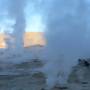
<svg viewBox="0 0 90 90">
<path fill-rule="evenodd" d="M 34 45 L 44 46 L 46 44 L 43 32 L 26 32 L 24 36 L 24 47 Z M 0 48 L 5 48 L 5 35 L 0 33 Z"/>
</svg>

